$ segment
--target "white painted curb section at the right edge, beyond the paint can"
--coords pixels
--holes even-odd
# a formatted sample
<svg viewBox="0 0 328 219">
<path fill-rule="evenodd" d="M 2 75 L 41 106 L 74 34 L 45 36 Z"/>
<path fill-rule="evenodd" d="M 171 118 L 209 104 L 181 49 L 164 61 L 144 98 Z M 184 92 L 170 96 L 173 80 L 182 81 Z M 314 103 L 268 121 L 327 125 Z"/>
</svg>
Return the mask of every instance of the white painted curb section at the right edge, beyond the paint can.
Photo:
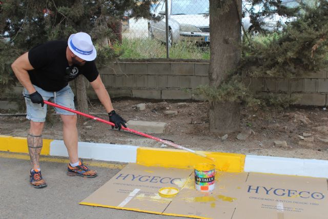
<svg viewBox="0 0 328 219">
<path fill-rule="evenodd" d="M 246 155 L 244 171 L 328 178 L 328 161 Z"/>
</svg>

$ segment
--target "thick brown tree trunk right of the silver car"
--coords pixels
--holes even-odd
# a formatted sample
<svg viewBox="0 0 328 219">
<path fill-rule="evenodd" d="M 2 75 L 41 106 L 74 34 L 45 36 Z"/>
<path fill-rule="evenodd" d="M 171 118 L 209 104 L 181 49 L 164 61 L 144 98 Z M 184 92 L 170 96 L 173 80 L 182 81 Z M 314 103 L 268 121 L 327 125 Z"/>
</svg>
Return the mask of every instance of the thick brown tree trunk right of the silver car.
<svg viewBox="0 0 328 219">
<path fill-rule="evenodd" d="M 210 0 L 211 59 L 209 81 L 219 87 L 240 61 L 241 23 L 240 0 Z M 210 101 L 210 131 L 238 131 L 240 105 Z"/>
</svg>

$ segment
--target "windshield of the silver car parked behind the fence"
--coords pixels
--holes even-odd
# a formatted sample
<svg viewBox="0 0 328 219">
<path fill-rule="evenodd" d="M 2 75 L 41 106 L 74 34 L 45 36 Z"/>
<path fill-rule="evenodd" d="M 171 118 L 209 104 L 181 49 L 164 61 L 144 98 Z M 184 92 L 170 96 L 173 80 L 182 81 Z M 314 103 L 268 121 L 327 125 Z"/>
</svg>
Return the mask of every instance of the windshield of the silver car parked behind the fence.
<svg viewBox="0 0 328 219">
<path fill-rule="evenodd" d="M 172 0 L 171 14 L 208 14 L 209 0 Z"/>
</svg>

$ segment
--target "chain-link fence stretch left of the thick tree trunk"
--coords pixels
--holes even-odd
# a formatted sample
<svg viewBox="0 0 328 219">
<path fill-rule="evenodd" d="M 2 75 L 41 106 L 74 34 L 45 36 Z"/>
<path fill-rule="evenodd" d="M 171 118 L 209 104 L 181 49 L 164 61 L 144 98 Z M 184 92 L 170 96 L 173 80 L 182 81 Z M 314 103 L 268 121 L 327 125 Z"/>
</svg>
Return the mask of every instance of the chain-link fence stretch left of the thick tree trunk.
<svg viewBox="0 0 328 219">
<path fill-rule="evenodd" d="M 136 20 L 126 12 L 122 20 L 122 57 L 209 58 L 209 0 L 154 1 L 149 10 L 152 16 L 161 16 L 160 21 Z"/>
</svg>

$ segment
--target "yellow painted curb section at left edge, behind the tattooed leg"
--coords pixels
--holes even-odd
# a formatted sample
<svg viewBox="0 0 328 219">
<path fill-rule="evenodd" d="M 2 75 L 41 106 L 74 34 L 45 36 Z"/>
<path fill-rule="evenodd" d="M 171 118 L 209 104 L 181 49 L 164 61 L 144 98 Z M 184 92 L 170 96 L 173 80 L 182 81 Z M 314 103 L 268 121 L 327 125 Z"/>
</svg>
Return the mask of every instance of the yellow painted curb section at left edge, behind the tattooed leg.
<svg viewBox="0 0 328 219">
<path fill-rule="evenodd" d="M 44 139 L 42 155 L 50 154 L 50 143 L 53 140 Z M 9 151 L 17 153 L 28 153 L 26 137 L 13 137 L 8 135 L 0 135 L 0 151 Z"/>
</svg>

